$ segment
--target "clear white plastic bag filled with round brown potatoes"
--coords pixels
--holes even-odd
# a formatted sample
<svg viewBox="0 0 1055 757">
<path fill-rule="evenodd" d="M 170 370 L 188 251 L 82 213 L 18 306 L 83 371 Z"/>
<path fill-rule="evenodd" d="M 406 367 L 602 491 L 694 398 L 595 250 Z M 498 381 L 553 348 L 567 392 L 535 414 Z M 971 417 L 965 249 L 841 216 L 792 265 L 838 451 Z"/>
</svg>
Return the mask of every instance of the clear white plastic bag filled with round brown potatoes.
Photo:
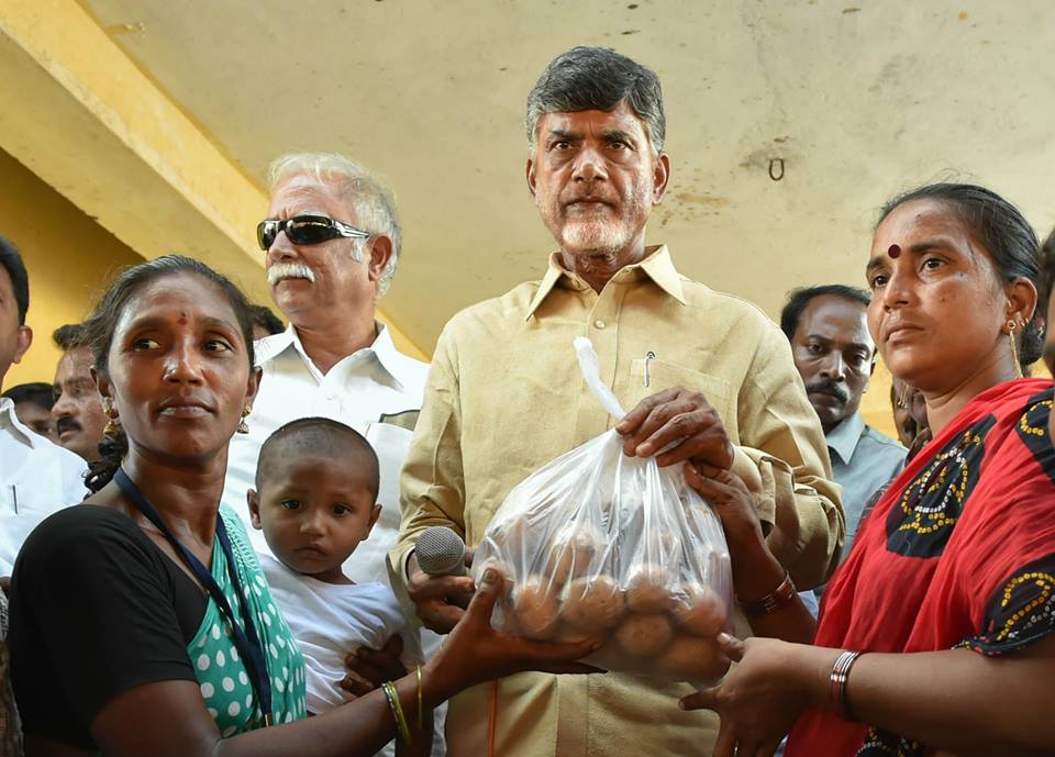
<svg viewBox="0 0 1055 757">
<path fill-rule="evenodd" d="M 610 414 L 589 339 L 575 339 L 582 377 Z M 474 558 L 507 577 L 499 631 L 542 641 L 601 634 L 586 661 L 702 684 L 728 668 L 714 636 L 729 628 L 732 576 L 718 516 L 681 466 L 628 457 L 612 430 L 519 483 Z"/>
</svg>

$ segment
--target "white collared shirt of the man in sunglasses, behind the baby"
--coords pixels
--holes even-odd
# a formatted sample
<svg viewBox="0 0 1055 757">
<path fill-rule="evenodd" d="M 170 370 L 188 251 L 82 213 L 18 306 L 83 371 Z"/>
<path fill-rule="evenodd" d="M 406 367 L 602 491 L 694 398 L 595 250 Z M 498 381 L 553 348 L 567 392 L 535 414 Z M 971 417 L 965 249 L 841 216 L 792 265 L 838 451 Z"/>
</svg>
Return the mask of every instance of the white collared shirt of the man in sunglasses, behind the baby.
<svg viewBox="0 0 1055 757">
<path fill-rule="evenodd" d="M 256 550 L 270 555 L 263 532 L 249 525 L 245 500 L 245 492 L 255 488 L 256 460 L 264 441 L 299 418 L 329 418 L 352 426 L 377 453 L 381 515 L 370 537 L 345 561 L 344 572 L 356 583 L 389 586 L 386 555 L 399 534 L 399 469 L 421 409 L 429 364 L 397 350 L 385 324 L 377 326 L 373 345 L 343 358 L 325 375 L 304 353 L 292 325 L 256 343 L 256 364 L 264 377 L 246 419 L 249 433 L 231 439 L 223 502 L 245 521 Z"/>
</svg>

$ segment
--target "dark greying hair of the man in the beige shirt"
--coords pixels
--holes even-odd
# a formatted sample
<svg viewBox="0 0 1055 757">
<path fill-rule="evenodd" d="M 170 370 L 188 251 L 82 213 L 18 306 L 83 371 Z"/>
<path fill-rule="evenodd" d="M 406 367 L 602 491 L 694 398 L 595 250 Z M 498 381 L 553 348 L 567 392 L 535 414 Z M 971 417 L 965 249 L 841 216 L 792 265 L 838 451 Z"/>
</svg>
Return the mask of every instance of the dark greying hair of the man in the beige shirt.
<svg viewBox="0 0 1055 757">
<path fill-rule="evenodd" d="M 655 71 L 607 47 L 573 47 L 546 66 L 528 96 L 528 144 L 534 149 L 545 113 L 610 111 L 623 100 L 641 119 L 653 149 L 662 153 L 667 120 Z"/>
</svg>

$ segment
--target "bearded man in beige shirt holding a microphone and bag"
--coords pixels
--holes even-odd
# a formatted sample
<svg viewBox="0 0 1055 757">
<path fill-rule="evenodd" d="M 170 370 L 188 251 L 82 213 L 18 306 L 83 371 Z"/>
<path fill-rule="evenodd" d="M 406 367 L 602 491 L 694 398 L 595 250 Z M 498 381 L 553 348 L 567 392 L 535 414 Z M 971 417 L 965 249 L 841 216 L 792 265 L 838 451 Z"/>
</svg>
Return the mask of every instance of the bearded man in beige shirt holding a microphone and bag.
<svg viewBox="0 0 1055 757">
<path fill-rule="evenodd" d="M 578 86 L 591 77 L 619 84 L 628 70 L 631 93 L 617 87 L 614 102 L 603 87 Z M 556 101 L 578 107 L 546 107 L 546 88 L 562 86 L 571 96 Z M 638 110 L 649 92 L 655 108 Z M 463 311 L 436 346 L 391 553 L 393 576 L 426 625 L 449 630 L 469 579 L 425 577 L 413 557 L 418 534 L 445 525 L 479 543 L 510 489 L 617 423 L 581 379 L 571 346 L 581 335 L 623 407 L 684 388 L 665 404 L 663 427 L 693 450 L 681 459 L 744 479 L 770 549 L 799 588 L 822 583 L 837 563 L 839 490 L 787 339 L 757 308 L 685 278 L 665 246 L 644 244 L 669 176 L 663 129 L 655 75 L 611 51 L 558 57 L 529 99 L 529 186 L 560 249 L 541 281 Z M 709 755 L 717 717 L 681 712 L 677 700 L 690 691 L 615 672 L 512 676 L 452 700 L 448 755 L 484 757 L 492 746 L 502 757 Z"/>
</svg>

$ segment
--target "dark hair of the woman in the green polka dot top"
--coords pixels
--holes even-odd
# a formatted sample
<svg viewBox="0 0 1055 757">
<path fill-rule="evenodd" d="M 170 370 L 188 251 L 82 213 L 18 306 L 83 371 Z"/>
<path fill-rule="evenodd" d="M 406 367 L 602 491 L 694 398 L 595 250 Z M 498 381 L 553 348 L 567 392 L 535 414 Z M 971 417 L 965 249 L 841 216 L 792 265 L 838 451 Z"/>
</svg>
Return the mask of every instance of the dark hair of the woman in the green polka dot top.
<svg viewBox="0 0 1055 757">
<path fill-rule="evenodd" d="M 81 343 L 91 346 L 96 371 L 100 376 L 107 375 L 110 346 L 113 343 L 118 321 L 121 320 L 121 314 L 129 301 L 144 287 L 158 279 L 188 274 L 200 276 L 214 285 L 227 301 L 227 304 L 231 305 L 238 321 L 242 337 L 245 339 L 249 368 L 253 368 L 256 359 L 253 354 L 253 309 L 242 290 L 200 260 L 182 255 L 165 255 L 155 260 L 147 260 L 122 270 L 102 296 L 99 304 L 96 305 L 95 312 L 80 324 L 84 329 Z M 124 432 L 120 432 L 115 436 L 107 435 L 103 437 L 99 445 L 102 458 L 89 466 L 88 476 L 85 479 L 85 483 L 90 491 L 99 491 L 110 482 L 113 475 L 118 472 L 121 460 L 127 450 L 129 441 L 125 438 Z"/>
</svg>

